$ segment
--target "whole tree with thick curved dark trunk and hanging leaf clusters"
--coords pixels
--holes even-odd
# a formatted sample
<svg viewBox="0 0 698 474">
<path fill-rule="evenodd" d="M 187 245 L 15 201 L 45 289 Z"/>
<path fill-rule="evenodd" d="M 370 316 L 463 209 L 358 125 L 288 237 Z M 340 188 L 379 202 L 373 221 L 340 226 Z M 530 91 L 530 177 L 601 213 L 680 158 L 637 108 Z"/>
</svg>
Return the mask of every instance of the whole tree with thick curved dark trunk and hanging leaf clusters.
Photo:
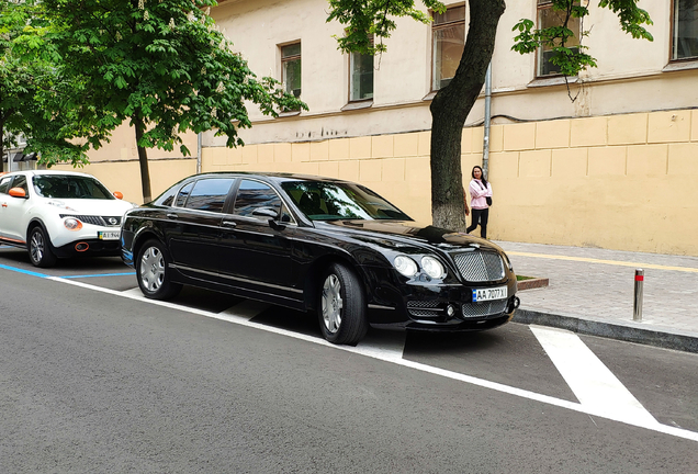
<svg viewBox="0 0 698 474">
<path fill-rule="evenodd" d="M 394 16 L 410 16 L 420 22 L 430 18 L 415 7 L 414 0 L 328 0 L 327 21 L 346 25 L 346 36 L 337 37 L 344 52 L 375 54 L 385 50 L 382 40 L 395 30 Z M 443 12 L 437 0 L 421 0 L 424 7 Z M 474 105 L 485 81 L 487 65 L 492 58 L 498 20 L 504 13 L 504 0 L 469 0 L 470 26 L 455 76 L 440 89 L 430 106 L 431 124 L 431 214 L 434 224 L 441 227 L 464 229 L 462 170 L 460 165 L 461 132 L 465 119 Z M 585 4 L 588 4 L 585 2 Z M 635 38 L 652 41 L 643 27 L 652 24 L 646 11 L 638 8 L 638 0 L 600 0 L 600 8 L 608 8 L 620 20 L 620 27 Z M 555 55 L 551 59 L 562 74 L 576 76 L 587 67 L 596 67 L 596 59 L 585 47 L 570 48 L 574 33 L 567 27 L 571 18 L 583 19 L 589 14 L 578 0 L 552 0 L 552 8 L 563 11 L 562 25 L 536 29 L 536 23 L 524 19 L 514 31 L 518 33 L 514 49 L 528 54 L 541 46 L 550 46 Z M 588 32 L 583 32 L 583 35 Z M 376 46 L 371 46 L 371 36 Z M 577 38 L 581 45 L 581 40 Z"/>
</svg>

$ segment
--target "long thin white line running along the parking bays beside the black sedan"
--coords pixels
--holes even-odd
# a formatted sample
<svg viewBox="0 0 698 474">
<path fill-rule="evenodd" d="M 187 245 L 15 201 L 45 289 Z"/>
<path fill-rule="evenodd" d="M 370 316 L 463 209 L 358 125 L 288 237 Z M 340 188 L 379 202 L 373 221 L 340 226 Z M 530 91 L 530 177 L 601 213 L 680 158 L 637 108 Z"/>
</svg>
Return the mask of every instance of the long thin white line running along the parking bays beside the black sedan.
<svg viewBox="0 0 698 474">
<path fill-rule="evenodd" d="M 627 416 L 624 416 L 624 414 L 609 414 L 607 410 L 598 410 L 596 407 L 588 407 L 588 406 L 584 406 L 582 404 L 578 403 L 574 403 L 574 402 L 568 402 L 568 400 L 564 400 L 564 399 L 560 399 L 560 398 L 554 398 L 548 395 L 542 395 L 542 394 L 538 394 L 534 392 L 529 392 L 529 391 L 525 391 L 521 388 L 516 388 L 516 387 L 511 387 L 508 385 L 504 385 L 500 383 L 496 383 L 496 382 L 489 382 L 483 379 L 477 379 L 477 377 L 473 377 L 470 375 L 464 375 L 458 372 L 451 372 L 444 369 L 439 369 L 439 368 L 434 368 L 430 365 L 426 365 L 419 362 L 413 362 L 409 360 L 405 360 L 402 359 L 402 349 L 399 350 L 399 356 L 398 353 L 396 353 L 395 351 L 390 351 L 390 350 L 384 350 L 384 351 L 378 351 L 371 348 L 371 345 L 368 345 L 369 347 L 367 349 L 363 348 L 363 345 L 358 345 L 356 348 L 353 347 L 349 347 L 349 346 L 336 346 L 333 345 L 330 342 L 327 342 L 325 339 L 320 339 L 317 337 L 313 337 L 313 336 L 306 336 L 300 332 L 294 332 L 291 330 L 286 330 L 286 329 L 281 329 L 281 328 L 275 328 L 275 327 L 271 327 L 271 326 L 264 326 L 258 323 L 254 323 L 251 320 L 247 320 L 244 317 L 239 317 L 239 316 L 229 316 L 226 314 L 222 314 L 222 313 L 211 313 L 207 311 L 203 311 L 203 309 L 196 309 L 196 308 L 191 308 L 191 307 L 187 307 L 187 306 L 179 306 L 177 304 L 173 303 L 168 303 L 168 302 L 161 302 L 161 301 L 156 301 L 156 300 L 147 300 L 147 298 L 143 298 L 142 296 L 137 296 L 134 293 L 131 292 L 120 292 L 120 291 L 115 291 L 115 290 L 110 290 L 110 289 L 104 289 L 104 287 L 100 287 L 100 286 L 95 286 L 95 285 L 91 285 L 88 283 L 82 283 L 82 282 L 78 282 L 78 281 L 72 281 L 72 280 L 66 280 L 66 279 L 61 279 L 61 278 L 57 278 L 57 276 L 49 276 L 49 280 L 53 281 L 57 281 L 60 283 L 66 283 L 66 284 L 71 284 L 75 286 L 81 286 L 88 290 L 93 290 L 93 291 L 99 291 L 102 293 L 108 293 L 108 294 L 112 294 L 115 296 L 122 296 L 122 297 L 127 297 L 127 298 L 132 298 L 132 300 L 138 300 L 138 301 L 143 301 L 145 303 L 149 303 L 149 304 L 154 304 L 154 305 L 158 305 L 158 306 L 162 306 L 162 307 L 168 307 L 171 309 L 178 309 L 178 311 L 182 311 L 182 312 L 188 312 L 188 313 L 192 313 L 192 314 L 196 314 L 200 316 L 205 316 L 205 317 L 210 317 L 213 319 L 221 319 L 221 320 L 225 320 L 228 323 L 234 323 L 234 324 L 238 324 L 240 326 L 246 326 L 246 327 L 251 327 L 251 328 L 256 328 L 256 329 L 260 329 L 260 330 L 264 330 L 264 331 L 269 331 L 269 332 L 273 332 L 273 334 L 278 334 L 278 335 L 282 335 L 282 336 L 288 336 L 294 339 L 299 339 L 299 340 L 303 340 L 306 342 L 312 342 L 312 343 L 316 343 L 318 346 L 324 346 L 327 348 L 331 348 L 335 350 L 341 350 L 341 351 L 346 351 L 346 352 L 351 352 L 351 353 L 356 353 L 356 354 L 361 354 L 361 356 L 365 356 L 365 357 L 370 357 L 372 359 L 376 359 L 376 360 L 382 360 L 385 362 L 391 362 L 391 363 L 395 363 L 395 364 L 399 364 L 403 366 L 407 366 L 407 368 L 412 368 L 418 371 L 423 371 L 423 372 L 427 372 L 427 373 L 431 373 L 435 375 L 439 375 L 439 376 L 443 376 L 447 379 L 451 379 L 451 380 L 457 380 L 460 382 L 464 382 L 464 383 L 469 383 L 471 385 L 475 385 L 475 386 L 481 386 L 484 388 L 491 388 L 497 392 L 502 392 L 502 393 L 506 393 L 509 395 L 514 395 L 514 396 L 518 396 L 521 398 L 526 398 L 526 399 L 531 399 L 531 400 L 536 400 L 536 402 L 540 402 L 540 403 L 544 403 L 548 405 L 552 405 L 552 406 L 556 406 L 556 407 L 561 407 L 561 408 L 566 408 L 573 411 L 577 411 L 577 413 L 582 413 L 582 414 L 587 414 L 587 415 L 594 415 L 597 416 L 599 418 L 606 418 L 612 421 L 619 421 L 626 425 L 630 425 L 630 426 L 634 426 L 634 427 L 640 427 L 640 428 L 645 428 L 652 431 L 656 431 L 656 432 L 661 432 L 664 435 L 669 435 L 669 436 L 674 436 L 677 438 L 683 438 L 683 439 L 687 439 L 687 440 L 691 440 L 691 441 L 697 441 L 698 442 L 698 432 L 694 432 L 694 431 L 689 431 L 683 428 L 676 428 L 676 427 L 671 427 L 671 426 L 666 426 L 666 425 L 661 425 L 657 421 L 654 422 L 650 422 L 646 419 L 637 419 L 637 418 L 628 418 Z"/>
</svg>

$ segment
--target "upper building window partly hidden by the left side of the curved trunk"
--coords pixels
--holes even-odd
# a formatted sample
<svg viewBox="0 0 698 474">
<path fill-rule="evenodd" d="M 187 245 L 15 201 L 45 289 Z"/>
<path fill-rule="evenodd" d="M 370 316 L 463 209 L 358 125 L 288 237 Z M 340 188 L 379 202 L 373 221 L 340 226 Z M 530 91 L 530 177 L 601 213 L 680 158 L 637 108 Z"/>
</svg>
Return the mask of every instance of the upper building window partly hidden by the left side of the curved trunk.
<svg viewBox="0 0 698 474">
<path fill-rule="evenodd" d="M 452 7 L 443 13 L 434 13 L 432 90 L 451 82 L 465 47 L 465 5 Z"/>
</svg>

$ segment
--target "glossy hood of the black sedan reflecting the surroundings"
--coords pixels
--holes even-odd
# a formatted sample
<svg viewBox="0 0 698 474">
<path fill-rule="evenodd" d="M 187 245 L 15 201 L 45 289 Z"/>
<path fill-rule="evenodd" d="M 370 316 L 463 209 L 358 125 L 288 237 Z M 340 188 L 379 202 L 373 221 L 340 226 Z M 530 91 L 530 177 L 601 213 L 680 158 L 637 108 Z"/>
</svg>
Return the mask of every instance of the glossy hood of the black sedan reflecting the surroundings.
<svg viewBox="0 0 698 474">
<path fill-rule="evenodd" d="M 443 250 L 458 247 L 480 247 L 503 251 L 497 245 L 465 233 L 448 230 L 413 221 L 315 221 L 318 229 L 360 234 L 363 237 L 390 238 L 412 245 L 432 245 Z"/>
</svg>

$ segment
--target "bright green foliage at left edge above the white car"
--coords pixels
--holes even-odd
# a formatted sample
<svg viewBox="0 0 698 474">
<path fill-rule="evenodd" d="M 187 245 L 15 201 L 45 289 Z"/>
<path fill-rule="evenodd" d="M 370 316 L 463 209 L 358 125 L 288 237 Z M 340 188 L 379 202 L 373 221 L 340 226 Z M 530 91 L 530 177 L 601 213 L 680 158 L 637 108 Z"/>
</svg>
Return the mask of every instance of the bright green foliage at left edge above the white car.
<svg viewBox="0 0 698 474">
<path fill-rule="evenodd" d="M 29 0 L 0 3 L 0 156 L 24 136 L 25 153 L 37 151 L 45 162 L 81 165 L 87 146 L 70 142 L 81 135 L 76 111 L 59 99 L 78 93 L 80 86 L 60 78 L 59 65 L 45 48 L 47 25 L 40 10 L 41 3 Z"/>
</svg>

